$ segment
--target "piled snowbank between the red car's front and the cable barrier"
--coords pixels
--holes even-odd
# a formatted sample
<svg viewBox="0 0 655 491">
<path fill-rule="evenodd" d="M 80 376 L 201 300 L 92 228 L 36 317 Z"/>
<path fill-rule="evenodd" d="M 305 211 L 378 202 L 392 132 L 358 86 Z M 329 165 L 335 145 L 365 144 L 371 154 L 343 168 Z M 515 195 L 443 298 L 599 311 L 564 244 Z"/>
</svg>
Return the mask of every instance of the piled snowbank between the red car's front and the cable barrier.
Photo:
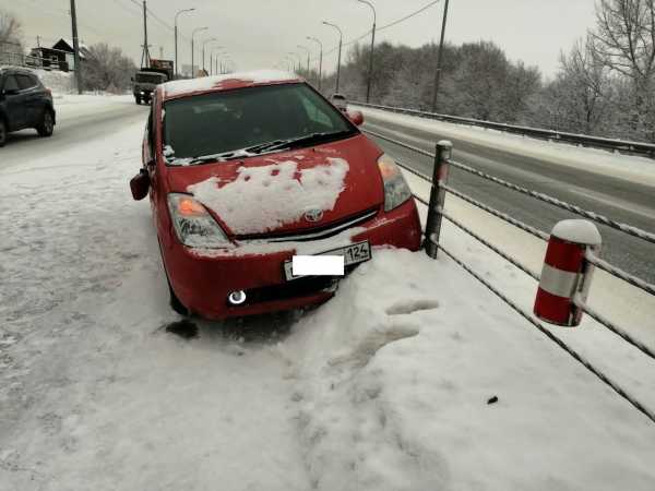
<svg viewBox="0 0 655 491">
<path fill-rule="evenodd" d="M 281 350 L 314 489 L 654 482 L 655 426 L 450 261 L 376 250 Z"/>
</svg>

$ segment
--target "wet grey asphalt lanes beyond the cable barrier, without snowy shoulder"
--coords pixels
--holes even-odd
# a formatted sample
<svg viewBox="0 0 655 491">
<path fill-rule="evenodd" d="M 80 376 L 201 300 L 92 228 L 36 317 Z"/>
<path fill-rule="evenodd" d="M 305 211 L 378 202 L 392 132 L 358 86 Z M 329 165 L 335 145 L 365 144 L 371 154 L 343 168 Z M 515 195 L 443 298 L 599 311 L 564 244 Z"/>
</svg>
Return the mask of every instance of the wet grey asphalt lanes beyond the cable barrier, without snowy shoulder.
<svg viewBox="0 0 655 491">
<path fill-rule="evenodd" d="M 438 132 L 417 130 L 396 122 L 390 123 L 368 113 L 364 128 L 430 152 L 434 151 L 434 142 L 442 137 Z M 433 166 L 431 158 L 384 140 L 371 137 L 390 155 L 431 176 Z M 453 143 L 453 158 L 456 161 L 576 204 L 617 221 L 655 232 L 655 189 L 652 187 L 466 141 L 452 137 L 449 140 Z M 655 161 L 653 171 L 655 172 Z M 496 209 L 545 231 L 550 231 L 558 220 L 580 218 L 577 215 L 456 168 L 451 169 L 450 184 Z M 598 227 L 604 240 L 604 259 L 650 283 L 655 283 L 655 244 L 609 227 L 602 225 Z"/>
</svg>

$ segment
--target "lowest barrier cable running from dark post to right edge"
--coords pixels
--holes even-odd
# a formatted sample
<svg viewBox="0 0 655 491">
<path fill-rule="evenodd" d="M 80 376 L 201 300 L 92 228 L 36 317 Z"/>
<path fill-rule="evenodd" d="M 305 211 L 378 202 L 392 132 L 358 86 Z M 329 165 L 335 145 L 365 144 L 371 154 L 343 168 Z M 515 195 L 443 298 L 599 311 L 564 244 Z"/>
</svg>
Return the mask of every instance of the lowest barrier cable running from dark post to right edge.
<svg viewBox="0 0 655 491">
<path fill-rule="evenodd" d="M 473 271 L 469 266 L 467 266 L 463 261 L 456 258 L 453 253 L 451 253 L 448 249 L 445 249 L 442 244 L 439 244 L 439 249 L 443 251 L 445 255 L 448 255 L 451 260 L 453 260 L 458 266 L 461 266 L 464 271 L 466 271 L 469 275 L 476 278 L 479 283 L 485 285 L 493 295 L 500 298 L 503 302 L 505 302 L 512 310 L 519 313 L 522 318 L 524 318 L 527 322 L 529 322 L 533 326 L 541 332 L 546 337 L 548 337 L 551 342 L 558 345 L 561 349 L 568 352 L 573 359 L 580 362 L 584 368 L 586 368 L 590 372 L 596 375 L 602 382 L 604 382 L 607 386 L 609 386 L 612 391 L 615 391 L 619 396 L 630 403 L 635 409 L 638 409 L 641 414 L 643 414 L 646 418 L 648 418 L 652 422 L 655 422 L 655 414 L 642 405 L 634 397 L 629 395 L 623 388 L 612 382 L 607 375 L 605 375 L 599 369 L 594 367 L 590 361 L 582 357 L 577 351 L 568 346 L 563 340 L 552 334 L 544 324 L 537 321 L 533 315 L 526 312 L 523 308 L 517 306 L 515 302 L 510 300 L 504 294 L 493 287 L 489 282 L 478 275 L 475 271 Z"/>
</svg>

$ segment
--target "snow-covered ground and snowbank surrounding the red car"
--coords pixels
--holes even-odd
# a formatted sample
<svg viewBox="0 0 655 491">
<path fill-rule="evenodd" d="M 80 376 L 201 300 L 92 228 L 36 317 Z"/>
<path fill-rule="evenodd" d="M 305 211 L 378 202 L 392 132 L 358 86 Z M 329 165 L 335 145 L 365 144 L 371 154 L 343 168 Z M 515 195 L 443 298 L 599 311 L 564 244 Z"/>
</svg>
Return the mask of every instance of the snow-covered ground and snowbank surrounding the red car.
<svg viewBox="0 0 655 491">
<path fill-rule="evenodd" d="M 169 333 L 127 185 L 145 108 L 70 103 L 0 153 L 0 490 L 653 489 L 655 424 L 443 258 L 374 250 L 311 312 Z M 653 363 L 565 336 L 655 408 Z"/>
</svg>

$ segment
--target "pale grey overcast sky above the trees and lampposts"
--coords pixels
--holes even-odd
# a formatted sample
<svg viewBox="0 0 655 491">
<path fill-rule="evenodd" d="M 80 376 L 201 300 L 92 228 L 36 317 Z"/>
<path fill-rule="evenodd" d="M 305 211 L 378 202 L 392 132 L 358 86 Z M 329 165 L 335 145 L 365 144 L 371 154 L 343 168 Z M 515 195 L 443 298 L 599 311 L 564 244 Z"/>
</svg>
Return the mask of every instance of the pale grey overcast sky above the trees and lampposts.
<svg viewBox="0 0 655 491">
<path fill-rule="evenodd" d="M 439 40 L 443 1 L 419 15 L 379 33 L 377 40 L 420 46 Z M 401 19 L 430 0 L 371 0 L 378 11 L 378 25 Z M 136 62 L 141 59 L 143 20 L 140 0 L 76 0 L 81 39 L 91 45 L 106 41 L 121 47 Z M 289 51 L 302 52 L 297 45 L 319 37 L 325 50 L 337 43 L 337 34 L 321 25 L 327 20 L 344 31 L 344 40 L 370 29 L 372 14 L 357 0 L 148 0 L 148 9 L 171 26 L 175 13 L 194 7 L 195 12 L 179 17 L 179 55 L 189 63 L 189 38 L 195 27 L 210 29 L 196 39 L 216 37 L 215 46 L 225 46 L 238 69 L 270 68 Z M 70 0 L 0 0 L 0 7 L 15 13 L 23 23 L 24 40 L 44 45 L 70 37 Z M 545 75 L 558 67 L 560 50 L 568 50 L 594 24 L 594 0 L 451 0 L 446 39 L 451 43 L 492 40 L 512 60 L 537 65 Z M 159 49 L 174 58 L 174 35 L 169 27 L 151 19 L 148 23 L 151 55 Z M 365 40 L 366 43 L 366 40 Z M 207 57 L 209 47 L 207 45 Z M 209 61 L 207 61 L 209 63 Z M 327 69 L 334 69 L 336 52 L 325 57 Z"/>
</svg>

